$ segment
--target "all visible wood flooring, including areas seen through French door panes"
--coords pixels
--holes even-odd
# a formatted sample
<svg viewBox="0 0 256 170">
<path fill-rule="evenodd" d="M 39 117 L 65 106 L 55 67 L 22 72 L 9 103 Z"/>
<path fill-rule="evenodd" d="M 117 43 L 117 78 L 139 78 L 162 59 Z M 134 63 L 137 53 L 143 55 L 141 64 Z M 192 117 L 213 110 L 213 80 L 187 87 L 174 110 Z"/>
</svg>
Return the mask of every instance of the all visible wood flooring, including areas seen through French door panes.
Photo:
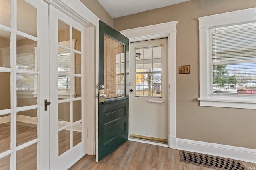
<svg viewBox="0 0 256 170">
<path fill-rule="evenodd" d="M 60 135 L 60 152 L 69 149 L 69 131 Z M 36 126 L 17 122 L 17 145 L 37 137 Z M 81 134 L 74 132 L 73 146 L 81 141 Z M 0 124 L 0 153 L 10 149 L 10 123 Z M 17 170 L 36 169 L 36 143 L 17 151 Z M 254 169 L 256 164 L 242 162 Z M 249 168 L 248 168 L 249 169 Z M 0 170 L 10 170 L 10 155 L 0 159 Z M 100 162 L 95 156 L 86 155 L 69 170 L 214 170 L 180 162 L 179 151 L 145 143 L 127 141 Z"/>
</svg>

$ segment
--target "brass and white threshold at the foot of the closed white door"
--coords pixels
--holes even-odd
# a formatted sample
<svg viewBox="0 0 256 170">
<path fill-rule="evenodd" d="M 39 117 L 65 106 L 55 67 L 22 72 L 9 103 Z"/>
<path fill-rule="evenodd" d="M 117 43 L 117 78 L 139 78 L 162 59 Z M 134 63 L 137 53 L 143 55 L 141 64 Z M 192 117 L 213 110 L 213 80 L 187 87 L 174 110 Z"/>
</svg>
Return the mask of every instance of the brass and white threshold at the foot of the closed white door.
<svg viewBox="0 0 256 170">
<path fill-rule="evenodd" d="M 135 141 L 135 142 L 141 142 L 141 143 L 147 143 L 151 145 L 158 145 L 162 147 L 169 147 L 168 140 L 156 140 L 158 138 L 152 138 L 152 137 L 144 137 L 141 135 L 133 135 L 130 134 L 129 141 Z"/>
</svg>

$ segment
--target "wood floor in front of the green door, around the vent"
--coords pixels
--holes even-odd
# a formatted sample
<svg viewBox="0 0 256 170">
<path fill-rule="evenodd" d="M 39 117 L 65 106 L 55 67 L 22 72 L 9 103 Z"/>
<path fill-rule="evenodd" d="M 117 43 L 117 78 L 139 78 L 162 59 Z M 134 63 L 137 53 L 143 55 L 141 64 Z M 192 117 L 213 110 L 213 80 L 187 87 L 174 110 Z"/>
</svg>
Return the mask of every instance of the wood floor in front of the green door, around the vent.
<svg viewBox="0 0 256 170">
<path fill-rule="evenodd" d="M 256 164 L 242 162 L 244 166 Z M 179 151 L 134 141 L 127 141 L 100 162 L 86 155 L 68 170 L 214 170 L 180 162 Z"/>
</svg>

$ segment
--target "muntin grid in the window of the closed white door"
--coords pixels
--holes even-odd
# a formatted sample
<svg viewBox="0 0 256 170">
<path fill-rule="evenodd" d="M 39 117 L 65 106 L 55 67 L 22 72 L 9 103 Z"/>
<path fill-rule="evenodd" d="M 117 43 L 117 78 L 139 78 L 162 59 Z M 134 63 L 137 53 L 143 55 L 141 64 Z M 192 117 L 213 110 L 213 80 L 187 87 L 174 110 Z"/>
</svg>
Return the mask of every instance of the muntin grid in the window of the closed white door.
<svg viewBox="0 0 256 170">
<path fill-rule="evenodd" d="M 160 57 L 158 57 L 158 58 L 154 58 L 154 48 L 158 48 L 158 47 L 160 47 L 161 48 L 161 54 L 160 54 Z M 158 97 L 158 98 L 162 98 L 162 92 L 160 93 L 160 96 L 154 96 L 154 90 L 155 90 L 155 88 L 160 88 L 161 90 L 162 90 L 162 46 L 153 46 L 153 47 L 145 47 L 145 48 L 136 48 L 136 53 L 137 53 L 137 50 L 143 50 L 143 55 L 145 54 L 144 53 L 144 49 L 152 49 L 152 58 L 148 58 L 148 59 L 142 59 L 142 60 L 140 60 L 140 58 L 139 59 L 137 59 L 137 57 L 136 57 L 136 60 L 135 60 L 135 65 L 136 65 L 136 76 L 135 76 L 135 89 L 136 89 L 136 94 L 135 94 L 135 96 L 136 97 L 141 97 L 141 96 L 145 96 L 145 94 L 144 94 L 144 92 L 145 92 L 145 86 L 152 86 L 152 96 L 150 95 L 150 97 Z M 135 56 L 136 56 L 136 54 L 135 54 Z M 143 56 L 144 58 L 145 58 L 145 56 Z M 159 59 L 161 60 L 161 68 L 157 68 L 157 67 L 154 67 L 154 63 L 156 63 L 157 61 L 159 62 Z M 152 67 L 151 68 L 149 68 L 149 69 L 151 69 L 152 71 L 145 71 L 145 61 L 149 61 L 149 60 L 152 60 Z M 143 68 L 137 68 L 137 61 L 142 61 L 143 62 Z M 154 62 L 154 61 L 156 61 L 156 62 Z M 141 62 L 141 63 L 142 63 Z M 151 63 L 150 63 L 151 64 Z M 141 72 L 138 72 L 138 70 L 142 70 Z M 142 75 L 142 77 L 143 77 L 143 84 L 137 84 L 136 83 L 136 79 L 137 79 L 137 75 L 139 75 L 139 74 L 141 74 Z M 155 78 L 154 78 L 154 74 L 161 74 L 161 76 L 160 76 L 160 79 L 161 79 L 161 84 L 159 85 L 159 84 L 155 84 L 154 85 L 154 81 L 156 81 L 156 80 L 154 80 Z M 146 75 L 146 76 L 145 76 Z M 152 84 L 150 84 L 150 85 L 145 85 L 145 82 L 146 82 L 146 78 L 147 78 L 147 76 L 152 76 Z M 159 77 L 159 76 L 157 76 L 157 77 Z M 140 86 L 142 86 L 143 88 L 142 88 L 142 90 L 143 90 L 143 94 L 142 95 L 138 95 L 137 94 L 137 87 L 138 88 L 140 88 Z M 155 87 L 156 86 L 156 87 Z M 149 97 L 148 95 L 146 95 L 146 97 Z"/>
</svg>

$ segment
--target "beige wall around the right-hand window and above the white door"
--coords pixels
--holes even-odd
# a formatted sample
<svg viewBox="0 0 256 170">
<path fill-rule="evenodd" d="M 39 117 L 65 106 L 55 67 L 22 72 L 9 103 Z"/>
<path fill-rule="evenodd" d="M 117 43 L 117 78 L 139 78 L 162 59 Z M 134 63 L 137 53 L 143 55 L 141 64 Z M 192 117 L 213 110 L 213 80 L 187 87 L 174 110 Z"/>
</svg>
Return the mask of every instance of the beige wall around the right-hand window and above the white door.
<svg viewBox="0 0 256 170">
<path fill-rule="evenodd" d="M 120 31 L 157 23 L 177 24 L 177 138 L 256 149 L 256 111 L 202 107 L 199 97 L 198 17 L 256 7 L 256 0 L 192 0 L 173 6 L 114 18 Z M 178 74 L 190 65 L 191 74 Z"/>
</svg>

